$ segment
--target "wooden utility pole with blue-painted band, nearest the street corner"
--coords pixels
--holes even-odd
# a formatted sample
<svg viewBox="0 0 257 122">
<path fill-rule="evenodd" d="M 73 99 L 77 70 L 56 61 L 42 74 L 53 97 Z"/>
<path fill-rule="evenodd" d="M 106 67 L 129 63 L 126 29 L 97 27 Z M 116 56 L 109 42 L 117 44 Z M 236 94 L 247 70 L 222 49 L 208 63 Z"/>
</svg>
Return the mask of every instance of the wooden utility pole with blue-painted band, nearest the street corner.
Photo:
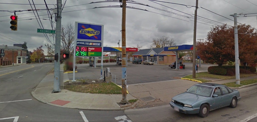
<svg viewBox="0 0 257 122">
<path fill-rule="evenodd" d="M 122 23 L 121 23 L 121 46 L 122 46 L 122 100 L 127 103 L 127 80 L 126 80 L 126 0 L 122 0 Z"/>
</svg>

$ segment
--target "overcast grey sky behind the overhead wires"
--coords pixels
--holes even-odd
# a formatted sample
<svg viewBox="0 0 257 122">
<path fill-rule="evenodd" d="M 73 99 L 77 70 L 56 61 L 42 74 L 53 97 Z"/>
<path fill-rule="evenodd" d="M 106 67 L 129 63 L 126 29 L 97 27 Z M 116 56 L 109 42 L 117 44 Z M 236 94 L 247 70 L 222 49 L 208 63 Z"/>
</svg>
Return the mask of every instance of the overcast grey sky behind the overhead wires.
<svg viewBox="0 0 257 122">
<path fill-rule="evenodd" d="M 56 0 L 45 0 L 48 4 L 48 8 L 56 7 Z M 107 8 L 94 8 L 102 6 L 120 6 L 117 2 L 104 2 L 93 3 L 101 0 L 67 0 L 62 11 L 61 24 L 66 25 L 68 22 L 85 22 L 104 25 L 104 46 L 118 47 L 118 41 L 121 40 L 121 20 L 122 20 L 122 8 L 120 7 L 107 7 Z M 171 3 L 150 1 L 150 0 L 135 0 L 134 2 L 127 3 L 127 6 L 140 8 L 138 9 L 126 9 L 126 46 L 136 47 L 137 44 L 142 46 L 142 49 L 150 48 L 152 39 L 155 37 L 169 36 L 176 40 L 177 45 L 192 45 L 193 33 L 194 33 L 194 11 L 196 5 L 195 0 L 159 0 Z M 0 45 L 13 46 L 15 43 L 27 42 L 29 51 L 33 51 L 36 47 L 43 45 L 45 54 L 47 49 L 44 46 L 49 43 L 43 33 L 37 33 L 37 28 L 42 28 L 42 25 L 38 23 L 35 15 L 32 11 L 16 12 L 18 16 L 18 28 L 17 31 L 11 31 L 10 29 L 10 16 L 14 15 L 13 11 L 29 10 L 32 9 L 29 2 L 32 4 L 45 4 L 43 0 L 1 0 L 0 3 Z M 62 0 L 64 4 L 65 0 Z M 140 2 L 149 6 L 133 4 Z M 156 2 L 156 3 L 154 3 Z M 12 4 L 5 4 L 12 3 Z M 177 3 L 177 4 L 172 4 Z M 21 5 L 28 4 L 28 5 Z M 51 5 L 54 4 L 54 5 Z M 82 5 L 85 4 L 85 5 Z M 161 4 L 161 5 L 160 5 Z M 178 5 L 183 4 L 183 5 Z M 164 5 L 164 6 L 163 6 Z M 188 5 L 188 6 L 185 6 Z M 70 7 L 71 6 L 71 7 Z M 167 7 L 166 7 L 167 6 Z M 46 5 L 35 5 L 36 9 L 46 9 Z M 157 10 L 155 8 L 163 9 L 168 12 Z M 189 8 L 190 7 L 190 8 Z M 231 14 L 243 13 L 245 16 L 251 17 L 238 17 L 237 21 L 242 24 L 249 24 L 252 27 L 257 27 L 257 18 L 249 13 L 257 13 L 257 1 L 256 0 L 199 0 L 198 1 L 197 15 L 197 34 L 196 39 L 204 39 L 207 36 L 207 32 L 215 23 L 220 22 L 234 26 L 234 18 Z M 201 8 L 202 7 L 202 8 Z M 88 9 L 94 8 L 94 9 Z M 205 9 L 209 10 L 205 10 Z M 88 10 L 82 10 L 88 9 Z M 79 10 L 79 11 L 76 11 Z M 143 11 L 148 10 L 148 11 Z M 6 12 L 11 11 L 11 12 Z M 70 12 L 73 11 L 73 12 Z M 211 12 L 210 12 L 211 11 Z M 29 13 L 30 12 L 30 13 Z M 52 11 L 50 10 L 52 13 Z M 155 13 L 153 13 L 155 12 Z M 214 12 L 214 13 L 213 13 Z M 217 15 L 217 14 L 219 15 Z M 40 20 L 44 29 L 52 29 L 46 10 L 38 11 Z M 163 14 L 163 15 L 161 15 Z M 167 15 L 167 16 L 165 16 Z M 222 17 L 222 16 L 226 17 Z M 54 14 L 52 15 L 54 19 Z M 244 16 L 244 15 L 238 15 Z M 201 18 L 203 17 L 203 18 Z M 37 16 L 38 18 L 38 16 Z M 205 20 L 203 20 L 206 18 Z M 227 19 L 228 18 L 228 19 Z M 32 20 L 29 20 L 32 19 Z M 207 19 L 216 21 L 215 23 L 207 21 Z M 231 20 L 229 20 L 231 19 Z M 200 21 L 203 20 L 203 21 Z M 53 24 L 55 27 L 55 23 Z M 53 37 L 47 34 L 50 41 L 53 43 Z M 197 40 L 198 41 L 198 40 Z M 121 44 L 120 44 L 121 47 Z"/>
</svg>

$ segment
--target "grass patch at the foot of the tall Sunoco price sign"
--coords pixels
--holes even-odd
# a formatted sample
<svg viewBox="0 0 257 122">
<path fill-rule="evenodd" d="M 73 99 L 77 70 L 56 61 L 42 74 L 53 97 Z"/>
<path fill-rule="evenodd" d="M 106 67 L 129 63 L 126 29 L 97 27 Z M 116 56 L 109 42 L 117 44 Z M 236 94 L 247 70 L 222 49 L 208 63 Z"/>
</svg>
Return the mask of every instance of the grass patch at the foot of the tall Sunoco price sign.
<svg viewBox="0 0 257 122">
<path fill-rule="evenodd" d="M 81 85 L 66 85 L 64 89 L 81 93 L 92 94 L 121 94 L 121 88 L 116 84 L 109 83 L 94 83 L 94 84 L 81 84 Z"/>
</svg>

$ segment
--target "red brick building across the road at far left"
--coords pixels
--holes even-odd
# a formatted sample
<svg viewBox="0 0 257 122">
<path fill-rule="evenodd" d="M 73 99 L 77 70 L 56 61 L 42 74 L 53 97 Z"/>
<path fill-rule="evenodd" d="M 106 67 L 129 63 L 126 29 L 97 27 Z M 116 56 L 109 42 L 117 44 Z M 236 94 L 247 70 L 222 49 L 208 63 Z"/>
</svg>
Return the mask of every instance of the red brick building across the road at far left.
<svg viewBox="0 0 257 122">
<path fill-rule="evenodd" d="M 26 64 L 27 49 L 17 46 L 0 45 L 4 50 L 4 57 L 0 57 L 1 66 L 12 64 Z"/>
</svg>

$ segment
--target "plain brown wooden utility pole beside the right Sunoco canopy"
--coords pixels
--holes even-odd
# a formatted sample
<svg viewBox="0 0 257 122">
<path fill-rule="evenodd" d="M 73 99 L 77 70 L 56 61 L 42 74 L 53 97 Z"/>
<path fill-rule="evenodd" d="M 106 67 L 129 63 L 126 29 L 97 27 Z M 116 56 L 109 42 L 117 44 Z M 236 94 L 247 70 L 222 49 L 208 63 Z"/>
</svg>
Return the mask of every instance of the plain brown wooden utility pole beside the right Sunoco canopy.
<svg viewBox="0 0 257 122">
<path fill-rule="evenodd" d="M 193 74 L 192 77 L 195 78 L 195 44 L 196 44 L 196 19 L 197 19 L 197 8 L 198 8 L 198 0 L 196 0 L 196 7 L 195 7 L 195 22 L 194 22 L 194 45 L 193 45 Z"/>
</svg>

